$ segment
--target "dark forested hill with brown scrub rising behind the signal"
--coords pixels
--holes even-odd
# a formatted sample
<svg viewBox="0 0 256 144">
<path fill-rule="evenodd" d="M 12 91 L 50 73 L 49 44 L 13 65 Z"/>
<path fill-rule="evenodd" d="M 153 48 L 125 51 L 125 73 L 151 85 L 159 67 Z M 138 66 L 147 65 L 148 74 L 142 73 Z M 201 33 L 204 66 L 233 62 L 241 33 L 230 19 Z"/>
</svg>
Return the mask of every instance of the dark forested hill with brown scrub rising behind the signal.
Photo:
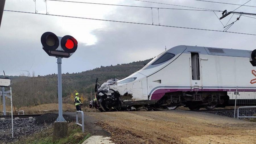
<svg viewBox="0 0 256 144">
<path fill-rule="evenodd" d="M 62 74 L 63 97 L 69 96 L 75 90 L 84 95 L 90 95 L 91 91 L 94 92 L 96 78 L 99 78 L 100 83 L 111 78 L 122 79 L 140 70 L 150 60 L 101 66 L 84 72 Z M 57 74 L 37 77 L 8 77 L 13 78 L 13 101 L 17 107 L 52 103 L 57 99 Z"/>
</svg>

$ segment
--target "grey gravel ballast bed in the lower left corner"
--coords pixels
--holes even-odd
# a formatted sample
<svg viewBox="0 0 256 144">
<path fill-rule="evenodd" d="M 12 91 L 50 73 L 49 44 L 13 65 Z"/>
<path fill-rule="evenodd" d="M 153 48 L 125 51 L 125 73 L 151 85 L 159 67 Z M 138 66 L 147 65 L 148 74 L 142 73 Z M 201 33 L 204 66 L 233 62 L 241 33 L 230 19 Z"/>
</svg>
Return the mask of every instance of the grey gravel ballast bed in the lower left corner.
<svg viewBox="0 0 256 144">
<path fill-rule="evenodd" d="M 14 137 L 12 138 L 11 119 L 0 120 L 0 142 L 13 142 L 21 136 L 40 132 L 47 127 L 47 125 L 38 125 L 35 121 L 35 118 L 13 119 Z"/>
</svg>

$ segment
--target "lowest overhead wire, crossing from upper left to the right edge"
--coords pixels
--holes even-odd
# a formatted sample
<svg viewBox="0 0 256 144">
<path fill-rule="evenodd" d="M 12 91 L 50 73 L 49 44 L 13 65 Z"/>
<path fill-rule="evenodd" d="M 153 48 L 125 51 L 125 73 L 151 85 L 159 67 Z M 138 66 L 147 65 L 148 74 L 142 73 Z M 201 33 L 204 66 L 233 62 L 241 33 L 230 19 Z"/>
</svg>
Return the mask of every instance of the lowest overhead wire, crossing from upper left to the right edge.
<svg viewBox="0 0 256 144">
<path fill-rule="evenodd" d="M 43 14 L 43 13 L 23 12 L 23 11 L 11 11 L 11 10 L 4 10 L 4 11 L 9 11 L 9 12 L 21 12 L 21 13 L 28 13 L 28 14 L 40 14 L 40 15 L 49 15 L 49 16 L 59 16 L 59 17 L 68 17 L 68 18 L 81 18 L 81 19 L 88 19 L 88 20 L 100 20 L 100 21 L 108 21 L 108 22 L 121 22 L 121 23 L 129 23 L 129 24 L 141 24 L 141 25 L 163 26 L 163 27 L 172 27 L 172 28 L 184 28 L 184 29 L 193 29 L 193 30 L 205 30 L 205 31 L 213 31 L 213 32 L 226 32 L 226 31 L 210 30 L 210 29 L 202 29 L 202 28 L 189 28 L 189 27 L 181 27 L 181 26 L 169 26 L 169 25 L 147 24 L 147 23 L 138 23 L 138 22 L 125 22 L 125 21 L 105 20 L 105 19 L 97 19 L 97 18 L 84 18 L 84 17 L 77 17 L 77 16 L 63 16 L 63 15 L 56 15 L 56 14 Z M 227 33 L 245 34 L 245 35 L 256 36 L 256 34 L 247 34 L 247 33 L 240 33 L 240 32 L 227 32 Z"/>
</svg>

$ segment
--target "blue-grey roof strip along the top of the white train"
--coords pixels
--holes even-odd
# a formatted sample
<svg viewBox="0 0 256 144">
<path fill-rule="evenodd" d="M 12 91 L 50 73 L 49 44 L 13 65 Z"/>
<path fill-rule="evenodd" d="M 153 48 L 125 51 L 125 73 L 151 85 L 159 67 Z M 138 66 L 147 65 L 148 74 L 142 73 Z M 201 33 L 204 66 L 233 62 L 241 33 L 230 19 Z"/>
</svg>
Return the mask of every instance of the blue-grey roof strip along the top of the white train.
<svg viewBox="0 0 256 144">
<path fill-rule="evenodd" d="M 177 46 L 177 47 L 181 47 Z M 241 50 L 241 49 L 224 49 L 224 48 L 215 48 L 215 47 L 197 47 L 197 46 L 189 46 L 183 45 L 186 47 L 183 53 L 191 53 L 198 52 L 203 55 L 220 55 L 220 56 L 230 56 L 230 57 L 249 57 L 249 50 Z M 173 47 L 174 49 L 176 47 Z M 171 49 L 173 49 L 171 48 Z M 170 50 L 171 50 L 170 49 Z"/>
</svg>

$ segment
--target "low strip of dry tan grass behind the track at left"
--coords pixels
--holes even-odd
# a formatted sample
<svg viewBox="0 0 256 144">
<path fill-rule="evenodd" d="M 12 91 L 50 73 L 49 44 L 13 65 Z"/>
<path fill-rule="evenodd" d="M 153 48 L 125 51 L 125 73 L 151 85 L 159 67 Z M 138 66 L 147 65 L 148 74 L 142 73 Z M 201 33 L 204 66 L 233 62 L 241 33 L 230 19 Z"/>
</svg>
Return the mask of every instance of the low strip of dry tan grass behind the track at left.
<svg viewBox="0 0 256 144">
<path fill-rule="evenodd" d="M 76 107 L 75 105 L 72 104 L 63 104 L 63 112 L 75 112 Z M 25 114 L 43 114 L 43 113 L 49 113 L 49 112 L 58 112 L 58 104 L 57 103 L 50 103 L 50 104 L 42 104 L 42 105 L 37 105 L 34 107 L 20 107 L 20 108 L 15 108 L 16 113 L 18 114 L 19 110 L 24 110 Z M 3 105 L 0 105 L 0 111 L 3 111 Z M 6 106 L 6 111 L 11 111 L 10 106 Z M 14 111 L 14 109 L 13 109 Z M 82 111 L 83 112 L 97 112 L 95 109 L 90 109 L 87 106 L 82 106 Z M 14 112 L 15 114 L 15 112 Z"/>
</svg>

